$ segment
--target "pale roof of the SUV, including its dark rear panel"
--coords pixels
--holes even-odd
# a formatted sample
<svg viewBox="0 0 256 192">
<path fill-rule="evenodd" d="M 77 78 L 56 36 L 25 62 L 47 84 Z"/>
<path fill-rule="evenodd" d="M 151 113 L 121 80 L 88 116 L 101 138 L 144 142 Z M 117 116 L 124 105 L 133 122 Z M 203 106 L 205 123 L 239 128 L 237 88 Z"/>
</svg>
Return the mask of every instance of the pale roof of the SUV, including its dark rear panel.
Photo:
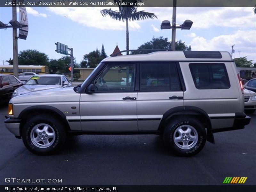
<svg viewBox="0 0 256 192">
<path fill-rule="evenodd" d="M 232 60 L 229 52 L 221 51 L 158 51 L 148 54 L 108 57 L 103 62 L 112 61 L 211 61 Z"/>
</svg>

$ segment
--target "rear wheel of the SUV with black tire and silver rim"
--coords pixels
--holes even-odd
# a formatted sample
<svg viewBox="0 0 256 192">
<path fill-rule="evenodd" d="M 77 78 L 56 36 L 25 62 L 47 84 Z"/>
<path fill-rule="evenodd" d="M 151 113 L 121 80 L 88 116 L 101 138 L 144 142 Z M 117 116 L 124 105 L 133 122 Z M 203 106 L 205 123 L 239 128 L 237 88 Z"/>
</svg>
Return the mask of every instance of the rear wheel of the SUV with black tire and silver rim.
<svg viewBox="0 0 256 192">
<path fill-rule="evenodd" d="M 178 156 L 194 156 L 206 142 L 205 128 L 193 117 L 171 120 L 164 129 L 163 137 L 165 146 Z"/>
</svg>

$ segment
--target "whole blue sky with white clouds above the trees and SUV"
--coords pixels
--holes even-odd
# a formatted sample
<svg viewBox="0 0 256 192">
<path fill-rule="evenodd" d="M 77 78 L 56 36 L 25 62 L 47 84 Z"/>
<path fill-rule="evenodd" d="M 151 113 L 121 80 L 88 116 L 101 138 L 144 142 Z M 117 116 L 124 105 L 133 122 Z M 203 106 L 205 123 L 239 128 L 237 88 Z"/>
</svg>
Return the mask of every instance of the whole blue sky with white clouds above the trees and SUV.
<svg viewBox="0 0 256 192">
<path fill-rule="evenodd" d="M 125 23 L 104 18 L 103 7 L 27 7 L 29 32 L 27 40 L 18 39 L 18 51 L 36 49 L 50 59 L 63 55 L 55 52 L 55 42 L 74 49 L 77 63 L 96 48 L 110 55 L 116 43 L 126 48 Z M 114 10 L 116 8 L 113 8 Z M 172 20 L 172 7 L 139 8 L 154 12 L 158 19 L 129 23 L 130 49 L 150 41 L 153 36 L 171 39 L 171 30 L 161 30 L 163 20 Z M 12 8 L 0 7 L 0 21 L 12 19 Z M 253 7 L 177 7 L 177 24 L 189 19 L 190 30 L 177 29 L 176 40 L 191 45 L 193 51 L 228 51 L 235 44 L 233 58 L 247 56 L 256 62 L 256 15 Z M 240 52 L 240 53 L 239 53 Z M 0 29 L 0 64 L 12 58 L 12 29 Z"/>
</svg>

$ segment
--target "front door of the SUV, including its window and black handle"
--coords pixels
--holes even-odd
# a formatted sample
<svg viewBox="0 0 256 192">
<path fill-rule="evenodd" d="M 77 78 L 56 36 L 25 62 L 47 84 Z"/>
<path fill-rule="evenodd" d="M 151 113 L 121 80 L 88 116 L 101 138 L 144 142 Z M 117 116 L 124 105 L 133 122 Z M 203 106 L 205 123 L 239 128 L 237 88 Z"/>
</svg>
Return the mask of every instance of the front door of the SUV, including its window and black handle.
<svg viewBox="0 0 256 192">
<path fill-rule="evenodd" d="M 109 63 L 91 82 L 92 94 L 82 93 L 83 131 L 137 131 L 137 92 L 134 63 Z"/>
</svg>

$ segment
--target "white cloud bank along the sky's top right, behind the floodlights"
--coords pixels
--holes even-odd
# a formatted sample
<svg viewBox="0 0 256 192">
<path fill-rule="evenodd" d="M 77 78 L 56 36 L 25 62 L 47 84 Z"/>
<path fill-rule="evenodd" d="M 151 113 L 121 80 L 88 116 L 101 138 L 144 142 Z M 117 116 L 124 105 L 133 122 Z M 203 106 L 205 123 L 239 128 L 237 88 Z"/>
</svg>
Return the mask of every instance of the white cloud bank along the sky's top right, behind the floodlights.
<svg viewBox="0 0 256 192">
<path fill-rule="evenodd" d="M 172 7 L 148 7 L 148 12 L 154 12 L 158 20 L 172 22 Z M 182 24 L 192 20 L 192 28 L 236 27 L 239 29 L 255 28 L 253 7 L 177 7 L 176 22 Z"/>
</svg>

